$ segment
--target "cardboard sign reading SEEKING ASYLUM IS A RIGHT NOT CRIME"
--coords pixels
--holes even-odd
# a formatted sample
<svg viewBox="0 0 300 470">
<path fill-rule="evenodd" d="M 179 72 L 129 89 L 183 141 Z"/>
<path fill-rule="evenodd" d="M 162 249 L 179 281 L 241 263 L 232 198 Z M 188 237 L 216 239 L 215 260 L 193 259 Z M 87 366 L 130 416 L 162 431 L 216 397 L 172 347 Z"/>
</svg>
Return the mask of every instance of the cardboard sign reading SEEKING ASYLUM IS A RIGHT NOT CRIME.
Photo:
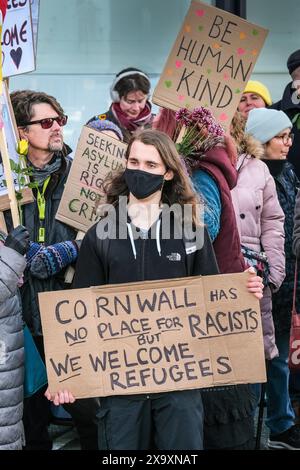
<svg viewBox="0 0 300 470">
<path fill-rule="evenodd" d="M 127 144 L 83 126 L 56 219 L 86 232 L 98 219 L 107 176 L 125 169 Z"/>
</svg>

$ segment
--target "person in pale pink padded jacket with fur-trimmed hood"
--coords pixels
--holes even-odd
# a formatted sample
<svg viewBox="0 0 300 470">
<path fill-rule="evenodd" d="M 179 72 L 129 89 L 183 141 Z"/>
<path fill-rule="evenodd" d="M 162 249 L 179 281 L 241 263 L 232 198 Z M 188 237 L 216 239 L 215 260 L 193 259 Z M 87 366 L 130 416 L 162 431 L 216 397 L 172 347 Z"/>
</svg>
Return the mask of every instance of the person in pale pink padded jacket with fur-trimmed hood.
<svg viewBox="0 0 300 470">
<path fill-rule="evenodd" d="M 278 350 L 272 317 L 272 292 L 279 289 L 285 278 L 284 213 L 274 179 L 267 165 L 260 160 L 264 149 L 252 136 L 245 134 L 245 122 L 240 113 L 236 113 L 232 121 L 231 133 L 237 143 L 239 158 L 237 185 L 231 195 L 242 251 L 248 256 L 251 255 L 250 250 L 258 254 L 264 252 L 267 257 L 268 280 L 260 303 L 265 357 L 273 359 L 278 356 Z"/>
</svg>

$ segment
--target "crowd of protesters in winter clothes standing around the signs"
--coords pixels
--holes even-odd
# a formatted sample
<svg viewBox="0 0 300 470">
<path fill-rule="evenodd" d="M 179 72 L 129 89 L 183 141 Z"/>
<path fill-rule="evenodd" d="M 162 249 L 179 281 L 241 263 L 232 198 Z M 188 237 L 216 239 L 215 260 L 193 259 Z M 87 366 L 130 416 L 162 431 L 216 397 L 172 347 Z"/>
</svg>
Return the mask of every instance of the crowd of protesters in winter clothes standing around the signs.
<svg viewBox="0 0 300 470">
<path fill-rule="evenodd" d="M 268 446 L 300 449 L 287 363 L 300 256 L 300 112 L 299 100 L 295 104 L 292 98 L 299 90 L 300 50 L 291 54 L 287 66 L 292 82 L 280 102 L 272 104 L 268 88 L 249 81 L 230 133 L 220 132 L 185 154 L 175 145 L 175 112 L 152 113 L 147 74 L 130 67 L 116 75 L 109 110 L 87 125 L 128 144 L 125 171 L 110 175 L 103 187 L 107 204 L 115 208 L 119 197 L 126 197 L 126 217 L 117 220 L 119 225 L 125 220 L 125 240 L 101 239 L 99 224 L 103 217 L 109 222 L 109 212 L 82 242 L 75 229 L 55 219 L 72 165 L 72 151 L 63 138 L 67 116 L 46 93 L 11 94 L 19 137 L 27 147 L 34 200 L 22 209 L 23 226 L 14 228 L 6 211 L 8 235 L 0 234 L 0 345 L 5 345 L 0 450 L 52 449 L 51 403 L 63 405 L 71 415 L 85 450 L 255 447 L 261 384 L 86 399 L 75 399 L 71 389 L 44 385 L 23 398 L 24 325 L 45 361 L 38 293 L 64 289 L 70 265 L 75 267 L 75 289 L 248 271 L 247 289 L 261 307 Z M 169 237 L 162 237 L 163 207 L 172 204 L 190 205 L 193 233 L 202 231 L 201 247 L 189 239 L 194 248 L 187 250 L 186 238 L 175 237 L 175 217 Z M 174 263 L 168 253 L 176 253 L 180 262 Z M 293 383 L 295 388 L 297 377 Z"/>
</svg>

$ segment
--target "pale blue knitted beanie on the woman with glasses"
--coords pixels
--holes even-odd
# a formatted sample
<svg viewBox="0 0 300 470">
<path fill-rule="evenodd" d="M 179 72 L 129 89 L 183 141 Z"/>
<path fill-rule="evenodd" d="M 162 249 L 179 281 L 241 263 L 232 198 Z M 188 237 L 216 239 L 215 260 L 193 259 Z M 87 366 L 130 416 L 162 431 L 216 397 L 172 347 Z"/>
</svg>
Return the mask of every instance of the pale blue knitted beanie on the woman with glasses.
<svg viewBox="0 0 300 470">
<path fill-rule="evenodd" d="M 293 124 L 283 111 L 254 108 L 248 115 L 245 132 L 265 144 L 288 127 L 293 127 Z"/>
</svg>

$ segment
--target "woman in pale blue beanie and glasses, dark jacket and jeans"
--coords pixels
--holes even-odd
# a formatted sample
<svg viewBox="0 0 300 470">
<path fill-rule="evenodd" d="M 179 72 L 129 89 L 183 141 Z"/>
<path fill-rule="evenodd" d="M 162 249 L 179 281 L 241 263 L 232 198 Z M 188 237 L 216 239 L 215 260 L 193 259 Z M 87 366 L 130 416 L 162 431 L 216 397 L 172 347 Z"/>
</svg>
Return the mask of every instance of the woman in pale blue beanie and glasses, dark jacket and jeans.
<svg viewBox="0 0 300 470">
<path fill-rule="evenodd" d="M 293 215 L 299 180 L 286 157 L 293 142 L 292 122 L 283 111 L 253 109 L 249 113 L 246 132 L 264 145 L 264 159 L 276 184 L 279 203 L 285 214 L 286 277 L 280 289 L 273 293 L 273 319 L 279 356 L 268 363 L 267 420 L 271 449 L 300 449 L 300 427 L 295 425 L 295 413 L 289 396 L 289 336 L 295 256 L 292 251 Z M 299 287 L 299 285 L 298 285 Z"/>
</svg>

